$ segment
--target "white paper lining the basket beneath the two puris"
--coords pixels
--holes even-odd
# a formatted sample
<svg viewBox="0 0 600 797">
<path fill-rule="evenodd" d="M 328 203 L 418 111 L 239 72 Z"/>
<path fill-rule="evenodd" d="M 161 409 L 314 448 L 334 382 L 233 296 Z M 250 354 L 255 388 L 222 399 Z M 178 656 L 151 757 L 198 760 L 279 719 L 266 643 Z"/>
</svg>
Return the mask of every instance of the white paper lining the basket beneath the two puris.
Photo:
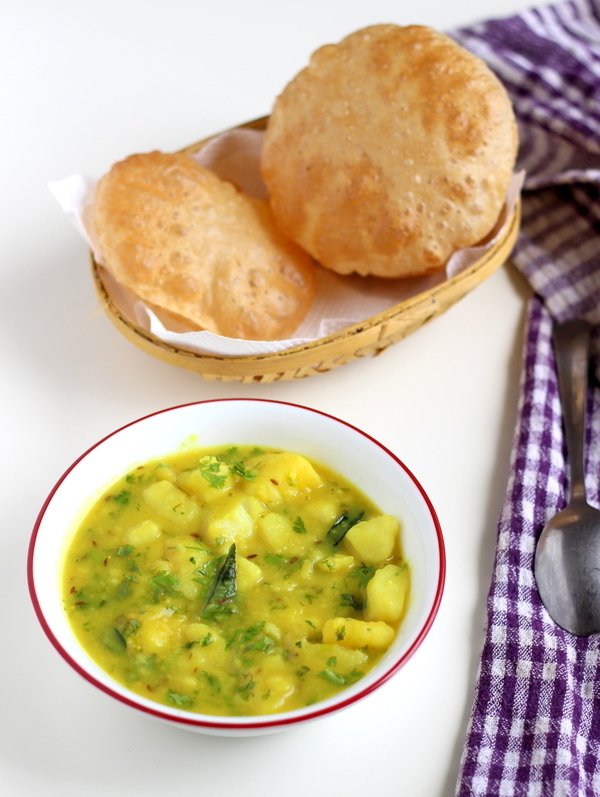
<svg viewBox="0 0 600 797">
<path fill-rule="evenodd" d="M 245 193 L 265 199 L 267 190 L 259 169 L 263 136 L 264 133 L 257 130 L 231 130 L 212 139 L 192 157 L 222 179 L 231 180 Z M 317 266 L 315 301 L 296 330 L 295 337 L 288 340 L 240 340 L 225 338 L 212 332 L 189 331 L 161 315 L 159 311 L 150 309 L 132 291 L 120 285 L 105 268 L 101 268 L 101 277 L 111 300 L 121 312 L 166 343 L 200 354 L 230 357 L 272 354 L 318 340 L 365 321 L 471 266 L 501 237 L 518 199 L 523 178 L 523 173 L 514 176 L 498 222 L 486 243 L 456 252 L 448 261 L 446 269 L 436 274 L 388 280 L 358 275 L 340 276 Z M 49 183 L 49 188 L 88 242 L 96 262 L 101 265 L 102 252 L 94 240 L 88 221 L 96 182 L 96 178 L 77 174 Z"/>
</svg>

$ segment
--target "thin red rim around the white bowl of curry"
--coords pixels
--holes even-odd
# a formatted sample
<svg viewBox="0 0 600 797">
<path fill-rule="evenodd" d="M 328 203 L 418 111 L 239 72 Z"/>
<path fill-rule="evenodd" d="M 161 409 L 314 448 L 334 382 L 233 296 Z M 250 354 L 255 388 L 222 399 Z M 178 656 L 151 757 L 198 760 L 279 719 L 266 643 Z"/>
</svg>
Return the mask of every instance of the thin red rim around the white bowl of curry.
<svg viewBox="0 0 600 797">
<path fill-rule="evenodd" d="M 60 643 L 60 641 L 56 638 L 56 636 L 54 635 L 54 632 L 50 628 L 50 625 L 49 625 L 48 621 L 46 620 L 46 617 L 44 616 L 42 607 L 40 605 L 40 601 L 39 601 L 38 596 L 37 596 L 36 587 L 35 587 L 35 580 L 34 580 L 34 576 L 33 576 L 33 558 L 34 558 L 34 553 L 35 553 L 36 540 L 37 540 L 37 536 L 38 536 L 40 525 L 42 523 L 42 520 L 43 520 L 44 515 L 46 513 L 46 510 L 48 508 L 48 505 L 52 501 L 52 498 L 54 497 L 54 494 L 56 493 L 56 491 L 58 490 L 60 485 L 63 483 L 63 481 L 66 479 L 66 477 L 69 475 L 69 473 L 79 464 L 79 462 L 81 462 L 81 460 L 85 459 L 85 457 L 87 457 L 88 454 L 90 454 L 90 452 L 92 452 L 94 449 L 98 448 L 98 446 L 102 445 L 102 443 L 104 443 L 105 440 L 108 440 L 111 437 L 114 437 L 116 434 L 119 434 L 124 429 L 127 429 L 130 426 L 135 426 L 136 424 L 141 423 L 142 421 L 145 421 L 148 418 L 152 418 L 152 417 L 157 416 L 157 415 L 162 415 L 163 413 L 166 413 L 166 412 L 173 412 L 173 411 L 178 410 L 178 409 L 183 409 L 184 407 L 191 407 L 191 406 L 196 406 L 196 405 L 201 405 L 201 404 L 216 404 L 216 403 L 219 403 L 219 402 L 237 402 L 237 401 L 250 402 L 250 403 L 252 403 L 252 402 L 259 403 L 260 402 L 260 403 L 266 403 L 266 404 L 281 404 L 281 405 L 285 405 L 285 406 L 288 406 L 288 407 L 296 407 L 298 409 L 306 410 L 308 412 L 314 412 L 317 415 L 323 415 L 326 418 L 330 418 L 331 420 L 342 424 L 343 426 L 347 426 L 348 428 L 350 428 L 353 431 L 357 432 L 361 436 L 367 438 L 368 440 L 373 442 L 375 445 L 377 445 L 380 449 L 385 451 L 388 454 L 388 456 L 390 456 L 402 468 L 402 470 L 410 478 L 410 480 L 413 482 L 413 484 L 415 485 L 415 487 L 417 488 L 417 490 L 421 494 L 421 497 L 423 498 L 423 500 L 424 500 L 424 502 L 425 502 L 425 504 L 427 506 L 427 509 L 429 511 L 429 514 L 431 516 L 431 520 L 433 521 L 433 525 L 434 525 L 435 532 L 436 532 L 436 537 L 437 537 L 438 555 L 439 555 L 438 582 L 437 582 L 437 586 L 436 586 L 434 599 L 433 599 L 431 608 L 429 610 L 429 614 L 427 615 L 425 623 L 422 625 L 421 629 L 419 630 L 419 633 L 417 634 L 416 638 L 413 640 L 413 642 L 410 645 L 410 647 L 408 648 L 408 650 L 406 650 L 405 653 L 397 661 L 395 661 L 392 666 L 390 666 L 373 683 L 369 684 L 364 689 L 360 690 L 359 692 L 356 692 L 355 694 L 351 695 L 348 698 L 345 698 L 345 699 L 342 699 L 342 700 L 336 702 L 333 705 L 325 705 L 322 708 L 316 708 L 312 712 L 303 713 L 301 715 L 295 715 L 296 712 L 289 712 L 288 715 L 286 715 L 285 713 L 276 714 L 276 715 L 273 715 L 272 718 L 264 719 L 264 720 L 259 719 L 256 722 L 237 722 L 236 721 L 238 719 L 237 717 L 230 717 L 230 718 L 228 718 L 228 721 L 219 721 L 219 720 L 211 721 L 211 720 L 205 720 L 205 719 L 199 720 L 199 719 L 196 719 L 193 714 L 190 714 L 188 716 L 187 713 L 184 714 L 184 712 L 181 712 L 181 714 L 179 714 L 179 713 L 177 713 L 177 714 L 175 714 L 175 713 L 174 714 L 168 714 L 168 713 L 166 713 L 164 711 L 161 711 L 160 709 L 155 709 L 155 708 L 151 708 L 149 706 L 141 705 L 140 703 L 136 702 L 135 700 L 127 698 L 124 695 L 121 695 L 118 692 L 113 691 L 110 687 L 108 687 L 108 686 L 106 686 L 106 684 L 103 684 L 100 681 L 98 681 L 94 676 L 90 675 L 90 673 L 87 672 L 87 670 L 85 670 L 83 667 L 81 667 L 81 665 L 78 664 L 75 661 L 75 659 L 72 658 L 72 656 L 63 648 L 63 646 Z M 384 446 L 382 443 L 380 443 L 374 437 L 371 437 L 371 435 L 367 434 L 366 432 L 363 432 L 358 427 L 353 426 L 351 423 L 348 423 L 347 421 L 343 421 L 340 418 L 337 418 L 335 415 L 330 415 L 329 413 L 322 412 L 321 410 L 316 410 L 316 409 L 314 409 L 312 407 L 305 407 L 305 406 L 303 406 L 301 404 L 294 404 L 292 402 L 287 402 L 287 401 L 275 401 L 275 400 L 272 400 L 272 399 L 226 398 L 226 399 L 209 399 L 209 400 L 206 400 L 206 401 L 192 401 L 192 402 L 189 402 L 187 404 L 180 404 L 180 405 L 177 405 L 175 407 L 167 407 L 166 409 L 163 409 L 163 410 L 157 410 L 156 412 L 151 412 L 148 415 L 144 415 L 142 418 L 137 418 L 135 421 L 131 421 L 130 423 L 127 423 L 124 426 L 121 426 L 119 429 L 116 429 L 115 431 L 113 431 L 110 434 L 106 435 L 101 440 L 98 440 L 97 443 L 95 443 L 94 445 L 90 446 L 86 451 L 84 451 L 84 453 L 81 454 L 81 456 L 78 457 L 69 468 L 67 468 L 67 470 L 63 473 L 63 475 L 60 477 L 60 479 L 56 482 L 56 484 L 52 488 L 50 494 L 48 495 L 48 497 L 44 501 L 44 504 L 43 504 L 38 516 L 37 516 L 37 519 L 35 521 L 35 525 L 33 527 L 33 532 L 32 532 L 32 535 L 31 535 L 31 539 L 30 539 L 30 542 L 29 542 L 29 549 L 28 549 L 28 552 L 27 552 L 27 584 L 28 584 L 28 587 L 29 587 L 29 595 L 30 595 L 31 601 L 33 603 L 33 608 L 34 608 L 35 613 L 37 615 L 38 621 L 39 621 L 40 625 L 42 626 L 42 629 L 44 630 L 44 633 L 46 634 L 46 636 L 48 637 L 48 639 L 50 640 L 50 642 L 54 646 L 54 648 L 58 651 L 58 653 L 60 653 L 60 655 L 63 657 L 63 659 L 68 664 L 70 664 L 70 666 L 76 672 L 78 672 L 86 681 L 88 681 L 89 683 L 93 684 L 93 686 L 95 686 L 97 689 L 100 689 L 100 691 L 102 691 L 105 694 L 109 695 L 110 697 L 120 701 L 121 703 L 124 703 L 125 705 L 130 706 L 131 708 L 135 708 L 138 711 L 143 711 L 143 712 L 145 712 L 147 714 L 150 714 L 151 716 L 154 716 L 154 717 L 156 717 L 158 719 L 166 720 L 167 722 L 172 722 L 172 723 L 176 723 L 176 724 L 191 725 L 191 726 L 195 726 L 195 727 L 198 727 L 198 728 L 213 728 L 215 730 L 223 729 L 223 730 L 229 730 L 229 731 L 259 730 L 261 728 L 262 729 L 264 729 L 264 728 L 279 728 L 279 727 L 284 727 L 284 726 L 287 726 L 287 725 L 293 725 L 293 724 L 295 724 L 297 722 L 304 722 L 304 721 L 309 720 L 309 719 L 322 717 L 322 716 L 330 714 L 330 713 L 332 713 L 334 711 L 338 711 L 339 709 L 342 709 L 342 708 L 344 708 L 346 706 L 349 706 L 352 703 L 355 703 L 356 701 L 361 700 L 363 697 L 365 697 L 366 695 L 370 694 L 375 689 L 378 689 L 389 678 L 391 678 L 392 675 L 394 675 L 404 664 L 406 664 L 406 662 L 410 659 L 410 657 L 414 654 L 414 652 L 417 650 L 417 648 L 421 645 L 421 643 L 423 642 L 423 640 L 427 636 L 427 634 L 428 634 L 428 632 L 429 632 L 429 630 L 430 630 L 430 628 L 431 628 L 431 626 L 433 624 L 433 621 L 435 620 L 435 617 L 437 615 L 437 612 L 438 612 L 438 609 L 439 609 L 439 606 L 440 606 L 440 602 L 441 602 L 441 599 L 442 599 L 442 593 L 444 591 L 445 579 L 446 579 L 446 551 L 445 551 L 445 546 L 444 546 L 444 538 L 443 538 L 443 535 L 442 535 L 442 528 L 441 528 L 440 522 L 438 520 L 437 514 L 435 512 L 435 509 L 433 508 L 433 504 L 431 503 L 431 501 L 429 499 L 429 496 L 427 495 L 427 493 L 425 492 L 425 490 L 421 486 L 420 482 L 415 478 L 415 476 L 412 473 L 412 471 L 410 471 L 409 468 L 407 468 L 406 465 L 393 452 L 391 452 L 388 448 L 386 448 L 386 446 Z M 198 715 L 196 715 L 196 717 L 197 716 Z M 206 715 L 203 715 L 203 716 L 206 716 Z"/>
</svg>

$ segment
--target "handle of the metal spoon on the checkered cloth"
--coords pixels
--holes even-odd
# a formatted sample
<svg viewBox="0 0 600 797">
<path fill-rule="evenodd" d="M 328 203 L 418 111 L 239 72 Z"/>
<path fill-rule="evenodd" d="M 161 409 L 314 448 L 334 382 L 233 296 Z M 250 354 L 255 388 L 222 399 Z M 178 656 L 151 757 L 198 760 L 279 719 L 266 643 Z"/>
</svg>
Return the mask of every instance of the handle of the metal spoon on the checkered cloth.
<svg viewBox="0 0 600 797">
<path fill-rule="evenodd" d="M 591 324 L 573 319 L 557 324 L 553 342 L 562 403 L 571 499 L 585 501 L 585 404 L 590 354 Z"/>
</svg>

